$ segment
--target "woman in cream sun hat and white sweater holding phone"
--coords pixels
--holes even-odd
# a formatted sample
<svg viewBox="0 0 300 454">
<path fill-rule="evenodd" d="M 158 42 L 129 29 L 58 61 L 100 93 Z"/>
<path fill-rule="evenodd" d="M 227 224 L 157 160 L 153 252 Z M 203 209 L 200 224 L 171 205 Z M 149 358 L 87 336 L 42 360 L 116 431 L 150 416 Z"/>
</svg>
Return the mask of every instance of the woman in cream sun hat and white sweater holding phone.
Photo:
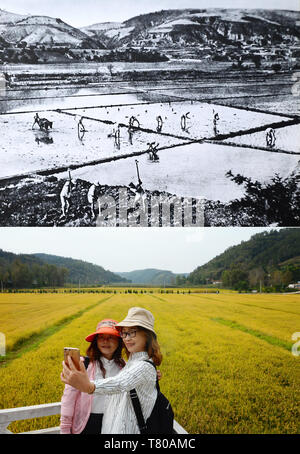
<svg viewBox="0 0 300 454">
<path fill-rule="evenodd" d="M 132 307 L 127 317 L 116 325 L 128 357 L 126 366 L 114 377 L 90 380 L 81 364 L 78 371 L 72 360 L 63 362 L 61 380 L 88 394 L 110 395 L 102 421 L 102 434 L 139 434 L 136 415 L 129 391 L 135 389 L 144 419 L 154 407 L 157 388 L 155 366 L 161 364 L 162 354 L 154 331 L 154 317 L 146 309 Z"/>
</svg>

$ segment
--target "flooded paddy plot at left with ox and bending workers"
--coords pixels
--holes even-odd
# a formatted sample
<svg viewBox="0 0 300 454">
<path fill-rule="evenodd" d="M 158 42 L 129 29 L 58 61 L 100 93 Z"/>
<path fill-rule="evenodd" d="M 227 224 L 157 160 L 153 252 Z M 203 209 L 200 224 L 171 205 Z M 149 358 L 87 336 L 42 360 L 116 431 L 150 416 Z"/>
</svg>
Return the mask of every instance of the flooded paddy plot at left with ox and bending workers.
<svg viewBox="0 0 300 454">
<path fill-rule="evenodd" d="M 54 173 L 55 169 L 62 166 L 80 166 L 92 161 L 146 152 L 147 143 L 155 142 L 157 138 L 154 133 L 141 131 L 130 135 L 124 127 L 116 143 L 112 137 L 114 124 L 87 119 L 84 120 L 86 132 L 78 134 L 80 117 L 55 111 L 47 112 L 53 127 L 45 132 L 36 125 L 32 129 L 33 118 L 31 113 L 0 116 L 0 125 L 6 130 L 0 144 L 0 178 L 50 169 Z M 161 147 L 174 147 L 184 142 L 171 136 L 160 138 Z"/>
</svg>

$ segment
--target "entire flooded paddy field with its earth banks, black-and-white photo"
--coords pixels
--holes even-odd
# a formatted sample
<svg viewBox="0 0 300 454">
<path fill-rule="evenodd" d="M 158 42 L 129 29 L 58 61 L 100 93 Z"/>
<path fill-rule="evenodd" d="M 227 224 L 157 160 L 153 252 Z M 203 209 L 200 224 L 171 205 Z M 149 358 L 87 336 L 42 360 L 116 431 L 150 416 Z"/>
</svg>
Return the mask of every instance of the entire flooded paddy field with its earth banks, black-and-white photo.
<svg viewBox="0 0 300 454">
<path fill-rule="evenodd" d="M 14 68 L 18 70 L 23 75 L 30 72 Z M 61 79 L 70 70 L 62 68 Z M 93 68 L 89 70 L 93 74 Z M 54 68 L 47 71 L 44 75 L 50 77 Z M 81 71 L 86 73 L 86 67 L 77 75 Z M 217 74 L 154 83 L 124 81 L 119 72 L 115 78 L 115 82 L 95 79 L 81 86 L 75 79 L 73 85 L 54 84 L 50 77 L 47 86 L 34 86 L 33 72 L 27 86 L 15 84 L 0 93 L 1 225 L 95 225 L 87 214 L 84 222 L 83 217 L 76 220 L 75 213 L 72 220 L 60 217 L 59 194 L 70 176 L 73 194 L 80 186 L 84 194 L 77 200 L 86 205 L 91 184 L 99 183 L 109 192 L 138 185 L 139 179 L 147 194 L 226 204 L 245 195 L 245 188 L 226 176 L 230 171 L 266 184 L 275 174 L 287 178 L 298 169 L 299 103 L 291 94 L 291 75 L 249 74 L 243 79 L 225 74 L 222 79 Z M 32 129 L 36 113 L 52 128 L 41 130 L 35 124 Z M 276 134 L 272 147 L 266 144 L 270 127 Z M 156 159 L 151 157 L 153 147 Z M 26 184 L 21 183 L 22 176 Z M 38 188 L 45 193 L 42 187 L 51 176 L 47 184 L 54 192 L 48 202 L 55 207 L 48 208 L 53 216 L 46 222 L 45 213 L 39 215 L 37 210 L 30 221 L 26 213 L 18 213 L 17 221 L 12 221 L 14 185 L 16 194 L 22 187 L 20 197 L 24 201 L 34 197 L 38 206 Z M 77 188 L 76 182 L 80 182 Z M 85 207 L 85 213 L 88 210 Z"/>
</svg>

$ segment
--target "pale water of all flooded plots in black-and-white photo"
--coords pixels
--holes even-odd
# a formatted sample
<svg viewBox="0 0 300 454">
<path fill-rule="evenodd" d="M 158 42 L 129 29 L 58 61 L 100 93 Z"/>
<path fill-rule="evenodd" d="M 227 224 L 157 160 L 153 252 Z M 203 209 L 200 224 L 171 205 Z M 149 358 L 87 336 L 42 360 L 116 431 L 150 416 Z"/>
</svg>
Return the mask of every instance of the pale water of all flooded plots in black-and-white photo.
<svg viewBox="0 0 300 454">
<path fill-rule="evenodd" d="M 186 141 L 191 139 L 213 136 L 213 114 L 216 109 L 220 117 L 217 126 L 219 133 L 223 134 L 261 125 L 267 127 L 269 123 L 284 120 L 283 117 L 190 101 L 144 105 L 143 92 L 131 92 L 130 87 L 127 89 L 124 93 L 122 85 L 80 90 L 60 88 L 57 92 L 31 90 L 26 91 L 23 98 L 22 92 L 14 92 L 13 99 L 0 100 L 1 111 L 9 113 L 0 116 L 1 130 L 5 131 L 0 143 L 0 176 L 120 157 L 146 150 L 148 144 L 154 142 L 159 144 L 159 148 L 176 147 L 159 151 L 158 162 L 149 161 L 148 154 L 138 157 L 140 176 L 145 189 L 227 202 L 243 194 L 242 187 L 226 178 L 225 174 L 229 170 L 234 174 L 241 173 L 266 182 L 275 173 L 282 177 L 288 176 L 297 166 L 297 155 L 247 148 L 249 145 L 265 146 L 264 133 L 235 138 L 236 143 L 243 148 L 199 143 L 186 145 Z M 58 108 L 69 110 L 72 116 L 53 111 Z M 33 112 L 42 110 L 48 112 L 40 116 L 53 121 L 53 129 L 48 133 L 32 130 Z M 17 113 L 24 111 L 28 113 Z M 181 116 L 187 113 L 189 118 L 184 130 Z M 80 138 L 77 123 L 81 115 L 108 120 L 114 124 L 85 120 L 87 132 Z M 137 116 L 141 126 L 152 129 L 153 133 L 135 132 L 133 140 L 130 141 L 128 131 L 123 128 L 120 147 L 116 147 L 111 137 L 113 129 L 119 122 L 127 123 L 131 115 Z M 163 119 L 162 132 L 170 136 L 156 133 L 158 115 Z M 284 150 L 299 151 L 295 139 L 299 130 L 296 131 L 296 127 L 289 128 L 278 133 L 278 146 Z M 135 159 L 131 157 L 86 166 L 72 171 L 72 176 L 108 185 L 128 185 L 132 181 L 136 183 Z M 60 173 L 57 176 L 66 175 Z"/>
</svg>

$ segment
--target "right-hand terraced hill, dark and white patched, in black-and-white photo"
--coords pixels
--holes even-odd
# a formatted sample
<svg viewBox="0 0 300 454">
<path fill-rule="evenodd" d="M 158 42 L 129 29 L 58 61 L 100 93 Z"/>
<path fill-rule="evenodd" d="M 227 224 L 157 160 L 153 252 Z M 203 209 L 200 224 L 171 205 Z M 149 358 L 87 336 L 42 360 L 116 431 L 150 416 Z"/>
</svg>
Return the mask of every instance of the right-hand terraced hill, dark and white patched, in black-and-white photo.
<svg viewBox="0 0 300 454">
<path fill-rule="evenodd" d="M 161 48 L 198 44 L 276 44 L 282 36 L 299 39 L 295 11 L 264 9 L 175 9 L 133 17 L 121 24 L 84 27 L 108 48 L 150 46 Z"/>
</svg>

